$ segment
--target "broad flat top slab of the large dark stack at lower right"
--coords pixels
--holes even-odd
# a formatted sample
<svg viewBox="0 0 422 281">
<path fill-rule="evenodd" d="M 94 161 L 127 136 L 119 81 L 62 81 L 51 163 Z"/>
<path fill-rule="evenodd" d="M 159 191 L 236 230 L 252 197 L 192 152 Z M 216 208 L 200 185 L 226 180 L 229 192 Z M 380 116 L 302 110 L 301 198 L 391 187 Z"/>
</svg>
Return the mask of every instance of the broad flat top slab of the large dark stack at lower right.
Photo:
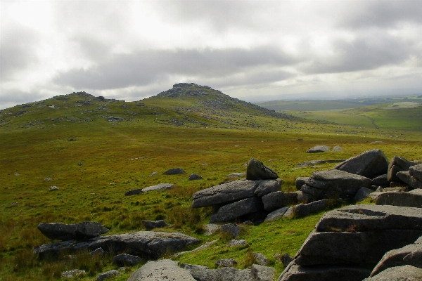
<svg viewBox="0 0 422 281">
<path fill-rule="evenodd" d="M 390 205 L 352 205 L 329 211 L 315 226 L 318 232 L 422 230 L 422 209 Z"/>
</svg>

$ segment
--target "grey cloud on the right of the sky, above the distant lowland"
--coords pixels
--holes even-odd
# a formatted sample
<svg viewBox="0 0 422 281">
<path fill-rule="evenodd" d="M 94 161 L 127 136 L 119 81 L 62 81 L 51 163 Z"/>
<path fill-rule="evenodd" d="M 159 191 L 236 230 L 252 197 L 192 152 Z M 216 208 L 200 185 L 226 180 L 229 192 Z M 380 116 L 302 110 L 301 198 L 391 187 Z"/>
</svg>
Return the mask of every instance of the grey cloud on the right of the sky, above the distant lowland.
<svg viewBox="0 0 422 281">
<path fill-rule="evenodd" d="M 403 63 L 411 53 L 417 54 L 404 41 L 392 37 L 359 37 L 352 42 L 337 40 L 333 43 L 335 55 L 314 58 L 299 67 L 306 73 L 335 73 L 373 70 L 383 65 Z"/>
</svg>

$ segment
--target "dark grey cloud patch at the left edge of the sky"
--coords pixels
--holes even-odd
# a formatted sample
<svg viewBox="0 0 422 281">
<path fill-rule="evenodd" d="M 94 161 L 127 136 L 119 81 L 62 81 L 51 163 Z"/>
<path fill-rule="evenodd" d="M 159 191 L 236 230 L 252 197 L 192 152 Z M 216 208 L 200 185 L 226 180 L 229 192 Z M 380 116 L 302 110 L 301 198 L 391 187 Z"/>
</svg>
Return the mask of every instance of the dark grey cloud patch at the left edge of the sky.
<svg viewBox="0 0 422 281">
<path fill-rule="evenodd" d="M 15 25 L 0 32 L 0 81 L 7 81 L 15 72 L 37 63 L 37 33 Z"/>
</svg>

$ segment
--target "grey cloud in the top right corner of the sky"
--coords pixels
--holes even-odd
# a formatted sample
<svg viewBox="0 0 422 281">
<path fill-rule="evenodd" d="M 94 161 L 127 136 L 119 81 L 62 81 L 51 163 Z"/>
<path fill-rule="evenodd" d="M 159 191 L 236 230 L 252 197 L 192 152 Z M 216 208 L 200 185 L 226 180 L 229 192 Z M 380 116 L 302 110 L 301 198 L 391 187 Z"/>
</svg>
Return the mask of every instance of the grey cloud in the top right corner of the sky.
<svg viewBox="0 0 422 281">
<path fill-rule="evenodd" d="M 399 22 L 422 22 L 421 1 L 353 1 L 358 5 L 345 13 L 341 25 L 352 28 L 392 27 Z"/>
</svg>

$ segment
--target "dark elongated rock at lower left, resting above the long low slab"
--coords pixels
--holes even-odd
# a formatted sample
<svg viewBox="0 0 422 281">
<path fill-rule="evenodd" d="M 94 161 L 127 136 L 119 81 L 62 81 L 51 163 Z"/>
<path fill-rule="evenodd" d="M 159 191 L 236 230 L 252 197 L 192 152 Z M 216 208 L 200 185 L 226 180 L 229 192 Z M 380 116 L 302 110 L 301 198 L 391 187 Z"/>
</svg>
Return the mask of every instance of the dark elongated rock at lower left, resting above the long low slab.
<svg viewBox="0 0 422 281">
<path fill-rule="evenodd" d="M 77 224 L 39 223 L 41 233 L 52 240 L 74 240 L 85 237 L 96 237 L 107 233 L 108 229 L 102 223 L 84 221 Z"/>
</svg>

